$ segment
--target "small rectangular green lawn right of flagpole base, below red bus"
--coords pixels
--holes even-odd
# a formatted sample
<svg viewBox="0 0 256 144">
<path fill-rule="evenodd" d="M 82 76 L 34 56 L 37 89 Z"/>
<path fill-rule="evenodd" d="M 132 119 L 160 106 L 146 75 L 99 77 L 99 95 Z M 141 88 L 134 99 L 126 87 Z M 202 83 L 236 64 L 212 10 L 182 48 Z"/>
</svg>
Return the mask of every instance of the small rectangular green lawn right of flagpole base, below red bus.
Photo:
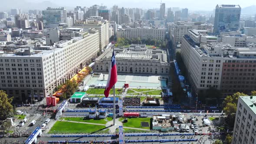
<svg viewBox="0 0 256 144">
<path fill-rule="evenodd" d="M 125 118 L 119 118 L 119 121 L 122 121 Z M 128 122 L 124 123 L 124 127 L 130 128 L 143 128 L 149 129 L 149 127 L 141 127 L 141 122 L 148 122 L 150 124 L 150 118 L 127 118 Z"/>
</svg>

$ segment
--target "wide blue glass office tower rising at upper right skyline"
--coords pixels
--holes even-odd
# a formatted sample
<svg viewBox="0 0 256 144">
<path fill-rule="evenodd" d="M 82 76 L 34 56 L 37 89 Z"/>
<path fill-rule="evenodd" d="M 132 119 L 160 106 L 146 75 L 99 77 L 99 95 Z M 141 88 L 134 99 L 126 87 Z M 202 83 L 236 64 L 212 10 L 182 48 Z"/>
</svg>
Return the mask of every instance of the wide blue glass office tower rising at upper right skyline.
<svg viewBox="0 0 256 144">
<path fill-rule="evenodd" d="M 235 31 L 239 29 L 240 15 L 240 5 L 217 5 L 213 33 L 219 34 L 222 31 Z"/>
</svg>

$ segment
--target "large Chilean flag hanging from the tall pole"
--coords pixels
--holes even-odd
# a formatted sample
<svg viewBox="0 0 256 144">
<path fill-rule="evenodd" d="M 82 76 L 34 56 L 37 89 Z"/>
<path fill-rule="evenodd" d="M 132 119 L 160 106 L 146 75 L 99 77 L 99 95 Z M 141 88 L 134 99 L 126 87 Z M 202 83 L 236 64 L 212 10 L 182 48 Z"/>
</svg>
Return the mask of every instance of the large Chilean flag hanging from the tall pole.
<svg viewBox="0 0 256 144">
<path fill-rule="evenodd" d="M 108 82 L 104 91 L 104 95 L 106 98 L 108 98 L 110 89 L 115 85 L 117 82 L 117 70 L 116 70 L 116 64 L 115 64 L 115 53 L 113 49 L 113 54 L 111 58 L 111 63 L 109 66 L 109 72 L 108 72 Z"/>
</svg>

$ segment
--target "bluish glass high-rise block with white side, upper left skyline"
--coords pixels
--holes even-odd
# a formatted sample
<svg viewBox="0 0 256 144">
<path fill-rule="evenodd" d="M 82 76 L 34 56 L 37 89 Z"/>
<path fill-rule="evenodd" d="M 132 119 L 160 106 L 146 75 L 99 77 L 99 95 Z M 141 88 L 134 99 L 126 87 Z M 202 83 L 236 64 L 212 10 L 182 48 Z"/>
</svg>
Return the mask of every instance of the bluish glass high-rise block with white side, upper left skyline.
<svg viewBox="0 0 256 144">
<path fill-rule="evenodd" d="M 65 7 L 61 8 L 51 8 L 48 7 L 43 13 L 43 23 L 45 26 L 49 23 L 66 23 L 67 11 Z"/>
</svg>

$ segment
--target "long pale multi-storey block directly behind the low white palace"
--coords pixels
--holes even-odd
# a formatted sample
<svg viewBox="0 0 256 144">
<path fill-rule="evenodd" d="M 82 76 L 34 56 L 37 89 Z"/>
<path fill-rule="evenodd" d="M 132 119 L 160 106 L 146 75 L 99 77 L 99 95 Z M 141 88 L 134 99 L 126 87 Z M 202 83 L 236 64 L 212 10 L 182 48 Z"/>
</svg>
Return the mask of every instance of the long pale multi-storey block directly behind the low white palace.
<svg viewBox="0 0 256 144">
<path fill-rule="evenodd" d="M 165 29 L 162 27 L 136 27 L 131 28 L 129 26 L 125 28 L 118 29 L 117 38 L 127 38 L 127 39 L 156 39 L 156 40 L 164 40 L 165 39 Z"/>
</svg>

